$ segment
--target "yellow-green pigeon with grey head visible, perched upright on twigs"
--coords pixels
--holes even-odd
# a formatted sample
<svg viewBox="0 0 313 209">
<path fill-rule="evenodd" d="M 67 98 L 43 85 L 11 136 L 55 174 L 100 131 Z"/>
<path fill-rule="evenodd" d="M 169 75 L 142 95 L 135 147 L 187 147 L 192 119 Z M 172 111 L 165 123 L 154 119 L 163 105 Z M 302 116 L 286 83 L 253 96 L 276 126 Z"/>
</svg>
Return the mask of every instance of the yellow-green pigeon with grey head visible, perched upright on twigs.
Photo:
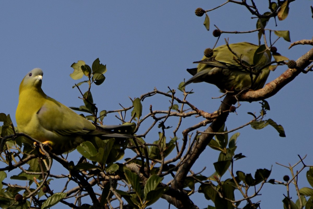
<svg viewBox="0 0 313 209">
<path fill-rule="evenodd" d="M 130 138 L 133 125 L 94 125 L 73 110 L 47 96 L 41 89 L 43 72 L 30 71 L 19 86 L 16 122 L 18 131 L 49 145 L 55 154 L 75 149 L 94 136 Z"/>
</svg>

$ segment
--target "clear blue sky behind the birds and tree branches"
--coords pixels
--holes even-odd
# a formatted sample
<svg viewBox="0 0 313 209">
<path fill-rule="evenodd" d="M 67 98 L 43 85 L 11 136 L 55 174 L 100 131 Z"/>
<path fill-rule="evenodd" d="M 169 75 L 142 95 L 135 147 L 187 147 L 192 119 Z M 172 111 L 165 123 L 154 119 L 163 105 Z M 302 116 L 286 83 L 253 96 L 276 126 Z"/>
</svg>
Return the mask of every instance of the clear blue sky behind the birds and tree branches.
<svg viewBox="0 0 313 209">
<path fill-rule="evenodd" d="M 15 124 L 15 109 L 18 104 L 18 86 L 24 75 L 33 68 L 44 71 L 44 92 L 67 106 L 83 105 L 78 99 L 77 89 L 71 87 L 74 81 L 69 74 L 71 64 L 84 60 L 86 64 L 99 58 L 107 65 L 106 80 L 92 88 L 94 101 L 101 110 L 119 109 L 119 103 L 130 106 L 128 97 L 139 97 L 154 87 L 167 92 L 167 86 L 176 89 L 183 79 L 189 79 L 187 68 L 193 68 L 203 56 L 203 50 L 213 47 L 216 38 L 212 36 L 216 24 L 225 31 L 247 31 L 255 28 L 255 19 L 238 5 L 228 4 L 208 13 L 211 30 L 204 26 L 204 17 L 197 17 L 198 7 L 211 9 L 221 1 L 5 1 L 0 7 L 0 112 L 10 114 Z M 266 12 L 267 1 L 257 1 L 257 6 Z M 262 5 L 264 4 L 264 5 Z M 290 30 L 291 41 L 310 39 L 313 32 L 313 19 L 310 12 L 312 1 L 298 0 L 290 5 L 290 14 L 285 21 L 273 20 L 268 27 L 275 30 Z M 248 41 L 257 43 L 257 34 L 223 34 L 218 45 Z M 310 49 L 308 46 L 295 46 L 288 50 L 289 43 L 280 39 L 275 46 L 278 52 L 290 59 L 298 59 Z M 271 72 L 268 81 L 275 79 L 286 67 Z M 312 165 L 312 116 L 311 96 L 312 75 L 300 74 L 273 97 L 267 99 L 271 110 L 266 118 L 271 118 L 285 128 L 287 137 L 280 138 L 271 127 L 253 130 L 245 127 L 239 130 L 237 152 L 247 158 L 237 161 L 237 170 L 253 173 L 258 168 L 270 169 L 270 178 L 282 181 L 289 171 L 275 164 L 292 165 L 299 159 L 298 154 L 308 154 L 305 162 Z M 199 109 L 213 112 L 217 110 L 221 95 L 211 84 L 190 84 L 187 88 L 195 92 L 188 101 Z M 178 92 L 177 95 L 180 93 Z M 154 109 L 166 110 L 167 98 L 151 98 L 143 102 L 144 113 L 149 105 Z M 259 103 L 243 102 L 238 115 L 228 117 L 228 130 L 251 120 L 247 112 L 258 112 Z M 113 115 L 114 116 L 114 115 Z M 105 119 L 106 124 L 118 124 L 114 117 Z M 192 119 L 191 123 L 200 119 Z M 145 130 L 142 130 L 144 132 Z M 157 130 L 156 130 L 157 131 Z M 151 135 L 151 140 L 156 136 Z M 74 155 L 74 154 L 73 154 Z M 212 164 L 218 153 L 207 149 L 200 156 L 205 159 L 192 169 L 203 175 L 212 174 Z M 208 160 L 209 159 L 209 160 Z M 203 165 L 207 163 L 207 165 Z M 299 167 L 300 169 L 300 167 Z M 304 180 L 304 181 L 302 181 Z M 166 182 L 165 182 L 166 183 Z M 300 175 L 300 188 L 309 186 L 305 172 Z M 292 188 L 294 190 L 294 188 Z M 286 194 L 285 187 L 265 185 L 261 200 L 263 208 L 282 207 L 281 200 Z M 293 200 L 296 200 L 293 193 Z M 205 208 L 209 201 L 203 195 L 192 197 L 200 207 Z M 165 201 L 160 201 L 167 206 Z"/>
</svg>

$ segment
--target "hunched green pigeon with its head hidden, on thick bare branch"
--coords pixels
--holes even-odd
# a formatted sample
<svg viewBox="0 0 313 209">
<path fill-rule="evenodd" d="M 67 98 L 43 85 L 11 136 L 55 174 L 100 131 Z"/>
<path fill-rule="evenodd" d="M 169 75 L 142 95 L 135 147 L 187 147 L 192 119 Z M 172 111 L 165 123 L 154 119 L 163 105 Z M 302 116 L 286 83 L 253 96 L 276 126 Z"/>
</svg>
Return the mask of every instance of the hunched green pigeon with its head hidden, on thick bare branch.
<svg viewBox="0 0 313 209">
<path fill-rule="evenodd" d="M 248 42 L 228 46 L 214 48 L 211 57 L 204 56 L 201 61 L 194 62 L 198 63 L 197 68 L 187 69 L 193 77 L 183 86 L 204 81 L 216 85 L 224 93 L 263 88 L 269 76 L 269 63 L 272 59 L 270 51 L 265 45 Z"/>
</svg>

